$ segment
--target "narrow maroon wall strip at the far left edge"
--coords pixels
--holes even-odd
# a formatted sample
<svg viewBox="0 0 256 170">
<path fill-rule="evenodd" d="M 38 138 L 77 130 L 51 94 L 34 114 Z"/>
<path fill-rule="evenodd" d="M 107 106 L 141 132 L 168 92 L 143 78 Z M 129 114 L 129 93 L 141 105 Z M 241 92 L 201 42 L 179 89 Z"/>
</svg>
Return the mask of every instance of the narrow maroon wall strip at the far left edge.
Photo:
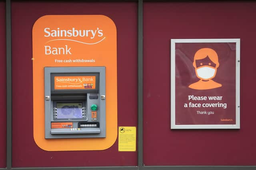
<svg viewBox="0 0 256 170">
<path fill-rule="evenodd" d="M 0 0 L 0 168 L 6 167 L 6 22 L 5 2 Z"/>
</svg>

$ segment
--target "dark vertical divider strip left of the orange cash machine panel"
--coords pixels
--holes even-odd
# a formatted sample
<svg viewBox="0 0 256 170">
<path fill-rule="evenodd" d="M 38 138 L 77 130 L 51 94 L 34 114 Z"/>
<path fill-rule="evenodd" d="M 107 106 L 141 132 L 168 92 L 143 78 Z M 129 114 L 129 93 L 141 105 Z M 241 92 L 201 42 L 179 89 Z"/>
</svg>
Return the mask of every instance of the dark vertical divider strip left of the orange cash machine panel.
<svg viewBox="0 0 256 170">
<path fill-rule="evenodd" d="M 6 168 L 12 168 L 12 35 L 11 1 L 6 0 Z"/>
</svg>

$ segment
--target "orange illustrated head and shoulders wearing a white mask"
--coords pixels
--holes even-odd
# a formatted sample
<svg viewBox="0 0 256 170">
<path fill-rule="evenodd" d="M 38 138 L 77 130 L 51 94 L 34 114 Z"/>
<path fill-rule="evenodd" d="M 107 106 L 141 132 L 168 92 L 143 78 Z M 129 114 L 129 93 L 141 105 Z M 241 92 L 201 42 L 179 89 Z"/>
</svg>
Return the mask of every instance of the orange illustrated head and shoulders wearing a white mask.
<svg viewBox="0 0 256 170">
<path fill-rule="evenodd" d="M 196 51 L 193 66 L 195 68 L 196 76 L 200 80 L 190 84 L 188 87 L 196 90 L 207 90 L 221 87 L 222 84 L 212 80 L 212 78 L 216 76 L 219 65 L 218 55 L 213 49 L 202 48 Z"/>
</svg>

